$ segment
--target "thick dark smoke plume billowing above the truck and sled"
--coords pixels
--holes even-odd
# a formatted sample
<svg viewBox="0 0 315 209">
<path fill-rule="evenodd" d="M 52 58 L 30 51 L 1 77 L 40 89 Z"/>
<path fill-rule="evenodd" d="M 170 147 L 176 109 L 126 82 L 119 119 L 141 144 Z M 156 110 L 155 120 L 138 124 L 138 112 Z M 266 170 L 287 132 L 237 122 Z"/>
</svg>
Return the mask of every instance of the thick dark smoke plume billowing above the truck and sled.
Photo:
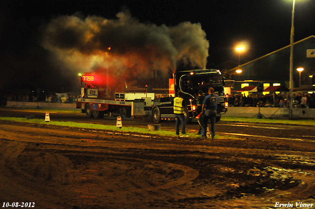
<svg viewBox="0 0 315 209">
<path fill-rule="evenodd" d="M 67 69 L 90 72 L 109 69 L 129 76 L 159 69 L 176 70 L 189 63 L 204 68 L 209 42 L 200 24 L 184 22 L 174 27 L 143 24 L 120 12 L 117 19 L 60 16 L 45 29 L 43 46 L 54 52 Z"/>
</svg>

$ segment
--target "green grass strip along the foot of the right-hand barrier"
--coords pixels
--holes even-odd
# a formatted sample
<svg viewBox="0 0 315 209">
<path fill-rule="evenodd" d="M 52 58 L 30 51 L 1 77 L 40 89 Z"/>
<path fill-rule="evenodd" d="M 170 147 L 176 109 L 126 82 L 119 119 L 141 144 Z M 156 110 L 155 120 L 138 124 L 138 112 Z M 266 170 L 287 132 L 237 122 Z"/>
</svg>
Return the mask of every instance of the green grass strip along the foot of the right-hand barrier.
<svg viewBox="0 0 315 209">
<path fill-rule="evenodd" d="M 245 118 L 245 117 L 222 117 L 221 121 L 229 122 L 252 122 L 252 123 L 283 123 L 283 124 L 295 124 L 295 125 L 315 125 L 314 119 L 309 120 L 289 120 L 289 119 L 257 119 L 255 118 Z"/>
</svg>

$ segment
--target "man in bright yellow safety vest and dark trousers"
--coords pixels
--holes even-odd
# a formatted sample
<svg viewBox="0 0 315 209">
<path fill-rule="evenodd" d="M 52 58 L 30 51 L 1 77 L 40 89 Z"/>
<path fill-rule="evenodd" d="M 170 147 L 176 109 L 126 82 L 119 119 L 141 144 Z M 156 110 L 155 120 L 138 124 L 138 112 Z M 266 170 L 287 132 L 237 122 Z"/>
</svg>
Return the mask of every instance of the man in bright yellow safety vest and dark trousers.
<svg viewBox="0 0 315 209">
<path fill-rule="evenodd" d="M 184 115 L 184 108 L 186 107 L 186 103 L 182 98 L 183 92 L 181 90 L 177 91 L 177 97 L 174 98 L 174 114 L 175 114 L 175 128 L 176 128 L 176 135 L 179 135 L 179 123 L 182 123 L 182 134 L 186 134 L 186 118 Z"/>
</svg>

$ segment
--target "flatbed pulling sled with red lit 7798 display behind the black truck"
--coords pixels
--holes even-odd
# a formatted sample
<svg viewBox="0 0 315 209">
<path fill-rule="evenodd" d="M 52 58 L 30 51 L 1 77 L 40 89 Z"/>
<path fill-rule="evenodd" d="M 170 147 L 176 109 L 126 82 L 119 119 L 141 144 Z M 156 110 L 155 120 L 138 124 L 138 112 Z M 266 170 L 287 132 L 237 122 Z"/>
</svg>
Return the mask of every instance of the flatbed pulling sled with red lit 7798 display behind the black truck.
<svg viewBox="0 0 315 209">
<path fill-rule="evenodd" d="M 110 88 L 103 82 L 102 77 L 94 73 L 81 75 L 81 98 L 76 108 L 94 118 L 103 118 L 105 114 L 132 119 L 151 115 L 154 93 L 115 92 L 111 95 Z"/>
</svg>

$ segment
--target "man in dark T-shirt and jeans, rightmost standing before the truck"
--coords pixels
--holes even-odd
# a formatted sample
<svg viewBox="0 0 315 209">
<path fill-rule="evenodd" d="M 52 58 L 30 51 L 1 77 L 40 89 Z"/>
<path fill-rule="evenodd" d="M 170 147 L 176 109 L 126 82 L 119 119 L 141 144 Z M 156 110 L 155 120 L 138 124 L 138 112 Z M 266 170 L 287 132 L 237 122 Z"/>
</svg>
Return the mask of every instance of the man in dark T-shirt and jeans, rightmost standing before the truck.
<svg viewBox="0 0 315 209">
<path fill-rule="evenodd" d="M 209 95 L 205 97 L 202 105 L 202 111 L 205 110 L 204 122 L 205 126 L 201 133 L 201 138 L 207 138 L 207 125 L 208 120 L 210 119 L 211 123 L 211 138 L 214 139 L 216 131 L 216 118 L 217 118 L 217 109 L 218 109 L 218 100 L 219 96 L 215 94 L 213 88 L 209 89 Z"/>
</svg>

